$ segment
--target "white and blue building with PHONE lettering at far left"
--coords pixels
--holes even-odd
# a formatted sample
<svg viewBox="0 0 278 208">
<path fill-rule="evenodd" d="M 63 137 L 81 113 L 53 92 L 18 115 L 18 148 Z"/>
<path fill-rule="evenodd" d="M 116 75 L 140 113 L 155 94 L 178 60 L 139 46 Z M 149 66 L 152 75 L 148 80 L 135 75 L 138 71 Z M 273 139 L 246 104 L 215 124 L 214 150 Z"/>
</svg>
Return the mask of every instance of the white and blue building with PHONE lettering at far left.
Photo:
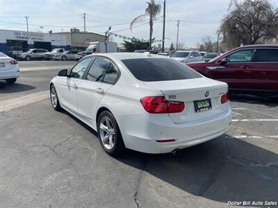
<svg viewBox="0 0 278 208">
<path fill-rule="evenodd" d="M 0 30 L 0 51 L 10 51 L 12 47 L 49 51 L 55 48 L 70 49 L 66 39 L 66 35 L 63 34 Z"/>
</svg>

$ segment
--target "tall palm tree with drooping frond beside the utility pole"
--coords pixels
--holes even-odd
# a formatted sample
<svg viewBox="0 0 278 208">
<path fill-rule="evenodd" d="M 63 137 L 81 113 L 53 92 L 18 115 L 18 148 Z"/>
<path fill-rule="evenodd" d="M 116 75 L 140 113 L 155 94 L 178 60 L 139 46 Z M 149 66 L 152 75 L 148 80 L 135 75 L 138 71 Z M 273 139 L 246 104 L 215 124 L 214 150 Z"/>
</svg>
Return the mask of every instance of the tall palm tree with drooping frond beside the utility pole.
<svg viewBox="0 0 278 208">
<path fill-rule="evenodd" d="M 143 21 L 146 19 L 146 16 L 149 17 L 149 50 L 152 50 L 152 31 L 154 25 L 154 19 L 161 12 L 161 5 L 156 4 L 154 0 L 147 1 L 147 8 L 144 15 L 139 15 L 131 21 L 130 28 L 132 28 L 133 24 L 138 21 Z"/>
</svg>

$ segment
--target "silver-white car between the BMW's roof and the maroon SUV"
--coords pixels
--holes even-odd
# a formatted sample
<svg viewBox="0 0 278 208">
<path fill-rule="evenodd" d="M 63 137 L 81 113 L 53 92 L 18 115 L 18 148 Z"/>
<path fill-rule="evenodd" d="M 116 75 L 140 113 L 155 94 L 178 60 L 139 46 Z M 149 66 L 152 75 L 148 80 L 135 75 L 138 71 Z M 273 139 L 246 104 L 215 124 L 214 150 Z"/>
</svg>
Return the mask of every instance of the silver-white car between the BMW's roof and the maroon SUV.
<svg viewBox="0 0 278 208">
<path fill-rule="evenodd" d="M 174 51 L 169 57 L 184 63 L 202 61 L 202 55 L 197 51 Z"/>
</svg>

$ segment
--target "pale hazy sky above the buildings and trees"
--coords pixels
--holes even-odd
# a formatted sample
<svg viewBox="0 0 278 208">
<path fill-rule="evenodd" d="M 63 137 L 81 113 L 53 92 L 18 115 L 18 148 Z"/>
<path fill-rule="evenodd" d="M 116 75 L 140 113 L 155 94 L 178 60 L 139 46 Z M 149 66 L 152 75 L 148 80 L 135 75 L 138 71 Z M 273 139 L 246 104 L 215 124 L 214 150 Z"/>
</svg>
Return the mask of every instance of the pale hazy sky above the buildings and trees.
<svg viewBox="0 0 278 208">
<path fill-rule="evenodd" d="M 278 6 L 277 0 L 269 1 Z M 163 6 L 163 0 L 156 0 L 156 3 Z M 177 42 L 178 19 L 179 42 L 184 46 L 195 47 L 204 35 L 211 35 L 216 40 L 216 31 L 228 6 L 229 0 L 166 0 L 165 46 Z M 132 19 L 144 14 L 145 8 L 146 0 L 0 0 L 0 29 L 26 31 L 24 17 L 28 16 L 29 31 L 60 32 L 70 31 L 73 27 L 83 31 L 85 12 L 89 32 L 104 34 L 108 25 L 112 25 L 111 32 L 147 40 L 147 21 L 136 24 L 132 31 L 129 29 Z M 163 7 L 158 15 L 161 18 L 154 22 L 156 40 L 162 39 L 162 15 Z M 113 26 L 115 24 L 122 25 Z M 40 26 L 44 28 L 40 29 Z M 122 39 L 114 37 L 114 41 L 120 43 Z"/>
</svg>

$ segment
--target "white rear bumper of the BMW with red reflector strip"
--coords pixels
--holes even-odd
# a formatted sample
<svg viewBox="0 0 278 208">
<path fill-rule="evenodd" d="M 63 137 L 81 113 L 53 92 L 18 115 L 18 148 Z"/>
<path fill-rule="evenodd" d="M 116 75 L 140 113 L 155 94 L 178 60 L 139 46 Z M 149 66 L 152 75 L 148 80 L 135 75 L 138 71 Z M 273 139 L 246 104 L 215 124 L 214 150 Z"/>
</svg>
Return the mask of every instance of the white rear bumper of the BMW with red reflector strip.
<svg viewBox="0 0 278 208">
<path fill-rule="evenodd" d="M 116 120 L 126 148 L 143 153 L 170 153 L 223 135 L 231 123 L 231 107 L 209 119 L 185 123 L 173 123 L 167 114 L 147 113 L 116 116 Z M 158 142 L 165 139 L 175 141 Z"/>
</svg>

